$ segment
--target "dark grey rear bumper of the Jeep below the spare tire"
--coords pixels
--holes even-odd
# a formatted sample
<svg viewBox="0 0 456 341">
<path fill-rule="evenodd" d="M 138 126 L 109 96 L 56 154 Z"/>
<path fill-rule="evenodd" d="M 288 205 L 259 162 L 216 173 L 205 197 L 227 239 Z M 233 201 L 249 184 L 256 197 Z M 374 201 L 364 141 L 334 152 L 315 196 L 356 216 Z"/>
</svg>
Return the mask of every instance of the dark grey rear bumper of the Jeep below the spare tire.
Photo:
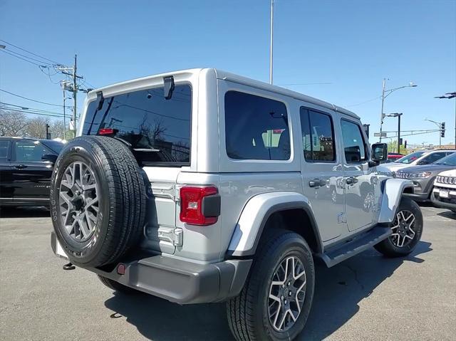
<svg viewBox="0 0 456 341">
<path fill-rule="evenodd" d="M 56 253 L 56 235 L 51 246 Z M 130 288 L 180 304 L 219 302 L 239 294 L 252 260 L 229 260 L 198 264 L 165 256 L 152 256 L 123 263 L 125 274 L 86 268 Z"/>
</svg>

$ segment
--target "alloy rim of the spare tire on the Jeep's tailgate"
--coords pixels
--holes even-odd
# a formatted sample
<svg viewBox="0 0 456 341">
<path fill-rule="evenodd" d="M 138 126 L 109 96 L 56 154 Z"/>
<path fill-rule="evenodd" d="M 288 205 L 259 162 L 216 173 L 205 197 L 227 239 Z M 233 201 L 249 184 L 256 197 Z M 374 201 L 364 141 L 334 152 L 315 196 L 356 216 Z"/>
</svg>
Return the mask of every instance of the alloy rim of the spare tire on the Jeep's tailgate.
<svg viewBox="0 0 456 341">
<path fill-rule="evenodd" d="M 87 241 L 98 222 L 99 197 L 95 172 L 85 162 L 72 162 L 63 172 L 59 205 L 62 224 L 75 241 Z"/>
</svg>

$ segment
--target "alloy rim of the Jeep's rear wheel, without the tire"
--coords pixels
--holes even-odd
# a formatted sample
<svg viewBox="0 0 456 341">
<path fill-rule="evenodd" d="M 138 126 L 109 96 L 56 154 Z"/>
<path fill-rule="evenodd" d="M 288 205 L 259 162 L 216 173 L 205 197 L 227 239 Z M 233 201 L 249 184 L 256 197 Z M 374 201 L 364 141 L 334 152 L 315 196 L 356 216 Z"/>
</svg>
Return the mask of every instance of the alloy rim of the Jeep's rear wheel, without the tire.
<svg viewBox="0 0 456 341">
<path fill-rule="evenodd" d="M 286 257 L 277 266 L 269 287 L 269 322 L 277 332 L 293 327 L 306 297 L 306 271 L 299 258 Z"/>
</svg>

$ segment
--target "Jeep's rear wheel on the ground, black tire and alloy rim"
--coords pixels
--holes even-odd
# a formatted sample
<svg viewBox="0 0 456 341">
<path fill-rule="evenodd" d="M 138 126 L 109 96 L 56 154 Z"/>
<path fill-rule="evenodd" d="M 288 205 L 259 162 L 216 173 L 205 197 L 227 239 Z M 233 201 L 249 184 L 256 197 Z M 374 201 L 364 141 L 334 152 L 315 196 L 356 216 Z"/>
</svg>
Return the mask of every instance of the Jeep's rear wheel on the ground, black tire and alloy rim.
<svg viewBox="0 0 456 341">
<path fill-rule="evenodd" d="M 261 243 L 239 296 L 227 302 L 236 340 L 293 340 L 314 297 L 315 271 L 304 238 L 280 230 Z"/>
</svg>

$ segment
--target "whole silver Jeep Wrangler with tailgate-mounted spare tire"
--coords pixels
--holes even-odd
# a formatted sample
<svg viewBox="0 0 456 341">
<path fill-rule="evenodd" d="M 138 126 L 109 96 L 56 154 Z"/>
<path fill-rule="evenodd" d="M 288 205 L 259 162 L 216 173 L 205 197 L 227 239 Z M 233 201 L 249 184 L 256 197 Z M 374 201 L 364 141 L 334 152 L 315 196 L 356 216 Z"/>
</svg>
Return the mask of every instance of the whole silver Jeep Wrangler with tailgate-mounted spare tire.
<svg viewBox="0 0 456 341">
<path fill-rule="evenodd" d="M 386 153 L 353 112 L 213 68 L 100 88 L 53 169 L 51 246 L 113 290 L 225 301 L 237 340 L 291 340 L 314 261 L 420 240 Z"/>
</svg>

